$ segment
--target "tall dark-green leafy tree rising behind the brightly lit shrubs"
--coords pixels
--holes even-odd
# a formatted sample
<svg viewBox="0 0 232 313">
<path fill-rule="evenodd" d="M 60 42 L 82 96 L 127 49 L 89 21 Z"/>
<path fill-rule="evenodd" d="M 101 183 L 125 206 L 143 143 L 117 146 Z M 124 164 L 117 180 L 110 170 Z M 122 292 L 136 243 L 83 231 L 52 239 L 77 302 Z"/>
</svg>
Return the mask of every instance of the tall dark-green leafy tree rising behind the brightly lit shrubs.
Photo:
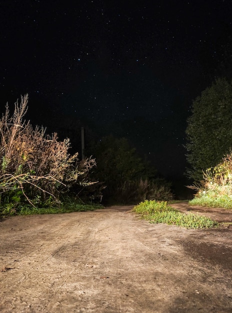
<svg viewBox="0 0 232 313">
<path fill-rule="evenodd" d="M 186 174 L 202 179 L 202 170 L 215 166 L 232 145 L 232 84 L 217 78 L 192 103 L 187 120 Z"/>
</svg>

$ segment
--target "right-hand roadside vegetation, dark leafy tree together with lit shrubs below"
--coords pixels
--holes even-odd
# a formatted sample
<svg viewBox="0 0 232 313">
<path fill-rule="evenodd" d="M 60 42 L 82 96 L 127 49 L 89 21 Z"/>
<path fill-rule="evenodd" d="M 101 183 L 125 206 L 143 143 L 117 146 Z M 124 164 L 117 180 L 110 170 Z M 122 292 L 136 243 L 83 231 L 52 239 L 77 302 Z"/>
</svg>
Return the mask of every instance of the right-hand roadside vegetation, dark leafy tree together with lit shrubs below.
<svg viewBox="0 0 232 313">
<path fill-rule="evenodd" d="M 185 145 L 188 187 L 196 191 L 191 205 L 232 208 L 231 101 L 230 72 L 192 102 Z"/>
</svg>

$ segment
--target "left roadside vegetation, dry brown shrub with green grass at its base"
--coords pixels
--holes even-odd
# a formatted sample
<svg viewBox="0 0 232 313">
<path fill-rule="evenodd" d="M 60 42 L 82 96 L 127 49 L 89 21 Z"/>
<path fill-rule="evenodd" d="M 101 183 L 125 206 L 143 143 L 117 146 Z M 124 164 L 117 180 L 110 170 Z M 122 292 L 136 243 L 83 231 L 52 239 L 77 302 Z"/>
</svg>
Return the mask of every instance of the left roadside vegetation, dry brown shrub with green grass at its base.
<svg viewBox="0 0 232 313">
<path fill-rule="evenodd" d="M 82 210 L 80 196 L 95 183 L 88 177 L 95 160 L 79 160 L 68 153 L 68 139 L 26 122 L 27 101 L 26 94 L 15 102 L 12 116 L 6 105 L 0 119 L 1 215 Z"/>
</svg>

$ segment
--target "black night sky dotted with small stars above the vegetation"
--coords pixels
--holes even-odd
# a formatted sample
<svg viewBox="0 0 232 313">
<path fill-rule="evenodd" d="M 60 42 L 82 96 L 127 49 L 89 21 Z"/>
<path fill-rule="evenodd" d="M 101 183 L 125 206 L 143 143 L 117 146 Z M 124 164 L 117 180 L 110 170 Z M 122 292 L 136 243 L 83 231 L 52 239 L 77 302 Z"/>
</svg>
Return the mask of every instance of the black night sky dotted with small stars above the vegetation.
<svg viewBox="0 0 232 313">
<path fill-rule="evenodd" d="M 231 12 L 231 0 L 0 0 L 2 111 L 28 93 L 31 122 L 125 136 L 179 176 L 191 101 L 212 82 Z"/>
</svg>

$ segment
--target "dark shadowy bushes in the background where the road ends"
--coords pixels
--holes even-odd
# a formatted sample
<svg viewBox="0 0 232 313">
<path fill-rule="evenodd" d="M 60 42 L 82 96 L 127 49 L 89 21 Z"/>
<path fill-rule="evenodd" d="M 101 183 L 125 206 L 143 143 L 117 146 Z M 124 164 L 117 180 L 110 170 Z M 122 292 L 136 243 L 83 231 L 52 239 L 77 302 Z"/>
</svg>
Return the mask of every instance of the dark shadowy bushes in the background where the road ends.
<svg viewBox="0 0 232 313">
<path fill-rule="evenodd" d="M 106 186 L 105 201 L 134 203 L 145 198 L 172 198 L 170 186 L 155 178 L 154 170 L 136 154 L 126 138 L 106 136 L 92 153 L 97 163 L 94 179 Z"/>
</svg>

